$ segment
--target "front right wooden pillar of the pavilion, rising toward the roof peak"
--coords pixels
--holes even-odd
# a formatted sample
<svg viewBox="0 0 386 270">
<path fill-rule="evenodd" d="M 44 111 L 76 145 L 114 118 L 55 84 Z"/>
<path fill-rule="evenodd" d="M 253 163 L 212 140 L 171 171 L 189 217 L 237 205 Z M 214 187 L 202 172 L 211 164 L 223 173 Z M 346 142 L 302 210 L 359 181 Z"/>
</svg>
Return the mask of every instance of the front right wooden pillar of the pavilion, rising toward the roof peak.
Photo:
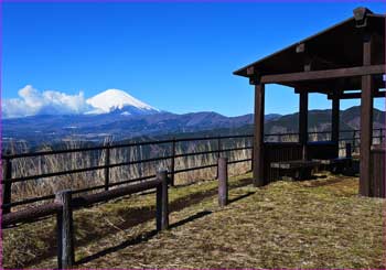
<svg viewBox="0 0 386 270">
<path fill-rule="evenodd" d="M 365 34 L 363 43 L 363 65 L 372 64 L 372 36 Z M 361 173 L 360 194 L 372 195 L 371 147 L 373 138 L 373 89 L 372 75 L 362 76 L 361 95 Z"/>
</svg>

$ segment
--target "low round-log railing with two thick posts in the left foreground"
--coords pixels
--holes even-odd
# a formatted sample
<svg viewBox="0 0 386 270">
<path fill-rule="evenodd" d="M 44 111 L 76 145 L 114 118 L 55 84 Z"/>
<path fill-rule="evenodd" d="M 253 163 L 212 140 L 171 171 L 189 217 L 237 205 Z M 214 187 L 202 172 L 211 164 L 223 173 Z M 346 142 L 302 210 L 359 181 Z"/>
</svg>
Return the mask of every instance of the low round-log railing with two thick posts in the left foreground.
<svg viewBox="0 0 386 270">
<path fill-rule="evenodd" d="M 75 263 L 74 220 L 73 210 L 107 202 L 117 197 L 156 188 L 156 225 L 157 230 L 169 228 L 168 172 L 159 171 L 156 180 L 133 184 L 97 194 L 72 197 L 72 191 L 61 191 L 55 194 L 53 203 L 28 208 L 2 216 L 2 227 L 18 223 L 31 223 L 39 218 L 56 215 L 57 228 L 57 266 L 58 269 L 71 269 Z"/>
</svg>

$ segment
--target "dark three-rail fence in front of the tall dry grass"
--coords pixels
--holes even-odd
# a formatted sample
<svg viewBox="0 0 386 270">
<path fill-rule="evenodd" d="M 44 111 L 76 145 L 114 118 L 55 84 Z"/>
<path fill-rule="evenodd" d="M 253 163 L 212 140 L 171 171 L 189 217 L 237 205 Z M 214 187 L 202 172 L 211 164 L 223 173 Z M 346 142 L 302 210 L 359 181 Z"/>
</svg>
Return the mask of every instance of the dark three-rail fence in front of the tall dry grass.
<svg viewBox="0 0 386 270">
<path fill-rule="evenodd" d="M 378 139 L 380 142 L 383 141 L 383 137 L 385 136 L 384 129 L 374 129 L 374 134 L 377 132 L 377 136 L 374 136 L 374 139 Z M 350 141 L 352 143 L 352 148 L 355 151 L 355 149 L 358 145 L 360 138 L 357 137 L 360 134 L 360 130 L 342 130 L 341 134 L 350 133 L 352 132 L 353 136 L 341 136 L 340 141 Z M 298 136 L 299 133 L 291 132 L 291 133 L 269 133 L 265 134 L 266 139 L 270 137 L 277 137 L 279 138 L 277 141 L 281 142 L 283 137 L 288 136 Z M 309 136 L 322 136 L 324 134 L 325 138 L 330 134 L 330 131 L 315 131 L 315 132 L 309 132 Z M 119 168 L 119 166 L 127 166 L 127 165 L 135 165 L 135 164 L 142 164 L 142 163 L 149 163 L 149 162 L 157 162 L 157 161 L 170 161 L 170 179 L 171 179 L 171 185 L 174 185 L 174 176 L 179 173 L 185 173 L 190 171 L 195 170 L 203 170 L 203 169 L 211 169 L 216 168 L 217 164 L 205 164 L 200 166 L 191 166 L 191 168 L 183 168 L 183 169 L 176 169 L 175 168 L 175 159 L 179 158 L 187 158 L 187 156 L 194 156 L 194 155 L 205 155 L 205 154 L 215 154 L 216 158 L 221 158 L 222 153 L 226 152 L 233 152 L 233 151 L 242 151 L 242 150 L 253 150 L 251 143 L 249 147 L 235 147 L 235 148 L 225 148 L 224 147 L 224 140 L 228 139 L 249 139 L 251 140 L 254 136 L 251 134 L 240 134 L 240 136 L 216 136 L 216 137 L 196 137 L 196 138 L 184 138 L 184 139 L 169 139 L 169 140 L 156 140 L 156 141 L 143 141 L 143 142 L 131 142 L 131 143 L 120 143 L 120 144 L 107 144 L 107 145 L 100 145 L 100 147 L 88 147 L 88 148 L 76 148 L 76 149 L 67 149 L 67 150 L 52 150 L 52 151 L 41 151 L 41 152 L 33 152 L 33 153 L 15 153 L 15 154 L 3 154 L 1 156 L 3 162 L 3 174 L 2 174 L 2 205 L 1 208 L 4 214 L 10 213 L 11 208 L 14 206 L 21 206 L 21 205 L 28 205 L 36 202 L 42 201 L 49 201 L 54 199 L 55 194 L 49 194 L 44 196 L 36 196 L 36 197 L 30 197 L 19 201 L 12 202 L 12 184 L 18 182 L 24 182 L 24 181 L 31 181 L 31 180 L 37 180 L 37 179 L 45 179 L 45 177 L 53 177 L 53 176 L 62 176 L 67 174 L 76 174 L 76 173 L 83 173 L 83 172 L 90 172 L 90 171 L 98 171 L 104 170 L 104 184 L 85 187 L 85 188 L 78 188 L 74 190 L 73 194 L 82 194 L 98 190 L 105 190 L 109 191 L 110 187 L 119 186 L 119 185 L 126 185 L 130 183 L 141 182 L 149 179 L 156 177 L 156 175 L 141 175 L 140 177 L 136 179 L 129 179 L 118 182 L 110 182 L 110 169 L 112 168 Z M 213 141 L 216 144 L 216 150 L 210 150 L 210 151 L 199 151 L 199 152 L 186 152 L 186 153 L 176 153 L 176 143 L 181 142 L 193 142 L 193 141 Z M 127 162 L 118 162 L 118 163 L 111 163 L 110 160 L 110 151 L 112 149 L 122 149 L 122 148 L 130 148 L 130 147 L 141 147 L 141 145 L 159 145 L 159 144 L 169 144 L 171 148 L 171 154 L 165 156 L 157 156 L 157 158 L 150 158 L 150 159 L 141 159 L 141 160 L 135 160 L 135 161 L 127 161 Z M 344 149 L 344 145 L 340 149 Z M 49 173 L 40 173 L 40 174 L 33 174 L 33 175 L 24 175 L 24 176 L 12 176 L 12 161 L 17 159 L 25 159 L 25 158 L 33 158 L 33 156 L 45 156 L 45 155 L 53 155 L 53 154 L 67 154 L 67 153 L 75 153 L 75 152 L 86 152 L 86 151 L 105 151 L 106 158 L 105 162 L 101 165 L 94 165 L 94 166 L 87 166 L 87 168 L 81 168 L 81 169 L 73 169 L 73 170 L 65 170 L 65 171 L 58 171 L 58 172 L 49 172 Z M 240 162 L 250 162 L 253 160 L 253 151 L 250 151 L 250 158 L 243 159 L 243 160 L 235 160 L 235 161 L 228 161 L 229 164 L 240 163 Z"/>
</svg>

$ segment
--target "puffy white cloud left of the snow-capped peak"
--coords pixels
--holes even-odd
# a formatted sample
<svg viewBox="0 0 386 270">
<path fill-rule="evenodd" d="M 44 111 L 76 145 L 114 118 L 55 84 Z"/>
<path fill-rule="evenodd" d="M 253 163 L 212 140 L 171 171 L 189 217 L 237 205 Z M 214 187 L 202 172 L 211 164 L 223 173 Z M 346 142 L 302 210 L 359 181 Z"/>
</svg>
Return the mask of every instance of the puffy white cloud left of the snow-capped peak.
<svg viewBox="0 0 386 270">
<path fill-rule="evenodd" d="M 2 117 L 15 118 L 35 115 L 77 115 L 89 110 L 83 91 L 67 95 L 61 91 L 39 91 L 31 85 L 19 90 L 19 98 L 2 100 Z"/>
</svg>

